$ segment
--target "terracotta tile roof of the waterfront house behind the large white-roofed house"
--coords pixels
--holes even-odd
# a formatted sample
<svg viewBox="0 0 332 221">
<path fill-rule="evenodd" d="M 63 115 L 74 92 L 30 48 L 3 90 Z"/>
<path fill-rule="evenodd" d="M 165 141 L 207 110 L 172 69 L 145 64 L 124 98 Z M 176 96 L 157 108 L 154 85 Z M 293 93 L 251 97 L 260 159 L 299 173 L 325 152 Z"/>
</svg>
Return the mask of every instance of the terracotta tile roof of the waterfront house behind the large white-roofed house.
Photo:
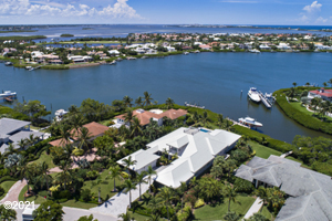
<svg viewBox="0 0 332 221">
<path fill-rule="evenodd" d="M 138 113 L 137 110 L 133 112 L 133 116 L 137 117 L 139 119 L 139 123 L 142 126 L 147 125 L 149 123 L 151 118 L 163 118 L 168 117 L 170 119 L 176 119 L 180 116 L 184 116 L 187 114 L 187 110 L 185 109 L 168 109 L 162 114 L 154 114 L 152 112 L 144 110 L 143 113 Z M 116 118 L 125 119 L 126 114 L 122 114 L 116 116 Z"/>
</svg>

